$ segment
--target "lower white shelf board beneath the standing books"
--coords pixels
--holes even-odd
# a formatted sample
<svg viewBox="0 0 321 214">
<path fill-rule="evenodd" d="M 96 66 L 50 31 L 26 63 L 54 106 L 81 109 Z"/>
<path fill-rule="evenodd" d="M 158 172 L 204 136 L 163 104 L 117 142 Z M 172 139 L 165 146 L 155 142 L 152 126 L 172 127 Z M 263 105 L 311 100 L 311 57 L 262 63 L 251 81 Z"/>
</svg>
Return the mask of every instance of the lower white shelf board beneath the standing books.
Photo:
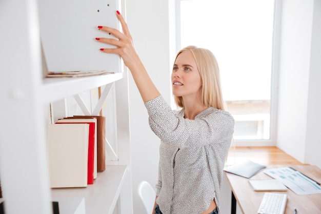
<svg viewBox="0 0 321 214">
<path fill-rule="evenodd" d="M 84 198 L 86 214 L 112 214 L 126 178 L 127 166 L 106 166 L 94 184 L 81 188 L 52 189 L 53 198 Z"/>
</svg>

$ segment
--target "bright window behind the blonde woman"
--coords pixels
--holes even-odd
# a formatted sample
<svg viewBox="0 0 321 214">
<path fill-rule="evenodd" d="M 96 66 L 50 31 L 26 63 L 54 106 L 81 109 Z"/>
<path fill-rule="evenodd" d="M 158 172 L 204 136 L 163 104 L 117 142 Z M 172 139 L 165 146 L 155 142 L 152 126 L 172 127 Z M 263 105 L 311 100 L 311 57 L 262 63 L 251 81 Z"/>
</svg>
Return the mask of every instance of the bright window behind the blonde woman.
<svg viewBox="0 0 321 214">
<path fill-rule="evenodd" d="M 216 56 L 234 140 L 272 145 L 274 0 L 189 0 L 179 7 L 180 47 L 195 45 Z"/>
</svg>

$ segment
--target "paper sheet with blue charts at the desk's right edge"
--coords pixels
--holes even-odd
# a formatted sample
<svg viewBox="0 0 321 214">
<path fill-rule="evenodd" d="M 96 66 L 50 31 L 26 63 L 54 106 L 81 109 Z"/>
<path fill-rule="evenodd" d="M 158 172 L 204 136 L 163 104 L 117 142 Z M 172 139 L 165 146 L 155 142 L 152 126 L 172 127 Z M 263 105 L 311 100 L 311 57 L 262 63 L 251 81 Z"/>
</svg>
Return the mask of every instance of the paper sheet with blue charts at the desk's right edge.
<svg viewBox="0 0 321 214">
<path fill-rule="evenodd" d="M 274 179 L 282 181 L 285 186 L 298 195 L 321 193 L 320 185 L 290 167 L 266 169 L 263 172 Z"/>
</svg>

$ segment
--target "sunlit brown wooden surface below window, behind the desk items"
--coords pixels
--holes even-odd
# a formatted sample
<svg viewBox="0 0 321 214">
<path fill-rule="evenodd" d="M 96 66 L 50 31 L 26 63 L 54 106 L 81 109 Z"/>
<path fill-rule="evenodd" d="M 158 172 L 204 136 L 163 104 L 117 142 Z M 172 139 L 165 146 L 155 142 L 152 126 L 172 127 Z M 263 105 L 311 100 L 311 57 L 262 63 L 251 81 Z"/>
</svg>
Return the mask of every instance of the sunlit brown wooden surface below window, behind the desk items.
<svg viewBox="0 0 321 214">
<path fill-rule="evenodd" d="M 300 165 L 298 160 L 275 146 L 235 147 L 228 153 L 226 165 L 251 160 L 262 165 Z"/>
</svg>

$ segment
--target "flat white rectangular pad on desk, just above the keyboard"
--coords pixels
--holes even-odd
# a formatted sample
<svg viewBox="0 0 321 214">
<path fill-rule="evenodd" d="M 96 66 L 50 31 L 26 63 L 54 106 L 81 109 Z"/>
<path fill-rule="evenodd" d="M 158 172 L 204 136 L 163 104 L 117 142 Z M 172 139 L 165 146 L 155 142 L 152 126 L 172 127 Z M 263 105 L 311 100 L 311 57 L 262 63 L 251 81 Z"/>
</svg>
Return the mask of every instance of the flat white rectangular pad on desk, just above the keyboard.
<svg viewBox="0 0 321 214">
<path fill-rule="evenodd" d="M 249 180 L 254 191 L 287 191 L 287 187 L 276 179 Z"/>
</svg>

